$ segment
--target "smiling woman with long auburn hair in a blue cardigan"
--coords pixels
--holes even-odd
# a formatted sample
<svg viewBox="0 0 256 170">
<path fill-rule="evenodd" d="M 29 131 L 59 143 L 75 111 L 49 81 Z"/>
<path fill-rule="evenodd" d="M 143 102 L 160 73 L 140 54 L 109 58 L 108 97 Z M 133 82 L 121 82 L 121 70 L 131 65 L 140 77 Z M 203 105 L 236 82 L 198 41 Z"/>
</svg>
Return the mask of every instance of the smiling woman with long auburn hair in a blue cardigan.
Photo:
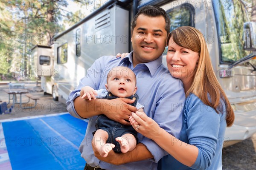
<svg viewBox="0 0 256 170">
<path fill-rule="evenodd" d="M 224 133 L 233 124 L 234 112 L 214 74 L 204 36 L 196 28 L 183 26 L 172 31 L 167 42 L 168 69 L 181 79 L 186 94 L 180 138 L 144 113 L 132 113 L 130 122 L 170 154 L 160 168 L 222 169 Z"/>
</svg>

